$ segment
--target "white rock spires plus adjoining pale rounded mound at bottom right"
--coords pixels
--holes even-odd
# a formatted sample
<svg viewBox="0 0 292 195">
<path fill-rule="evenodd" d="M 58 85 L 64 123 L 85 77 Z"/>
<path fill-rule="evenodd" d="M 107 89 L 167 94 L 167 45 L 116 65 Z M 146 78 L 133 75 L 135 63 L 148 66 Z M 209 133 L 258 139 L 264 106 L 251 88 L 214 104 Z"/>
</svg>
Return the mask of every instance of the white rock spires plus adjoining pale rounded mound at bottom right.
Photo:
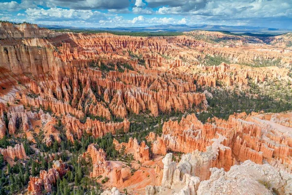
<svg viewBox="0 0 292 195">
<path fill-rule="evenodd" d="M 167 154 L 162 186 L 147 186 L 146 195 L 292 195 L 291 174 L 251 160 L 232 166 L 228 172 L 210 168 L 210 178 L 200 181 L 197 174 L 205 172 L 198 170 L 208 167 L 203 162 L 209 159 L 209 152 L 183 155 L 178 165 L 171 162 L 172 154 Z"/>
</svg>

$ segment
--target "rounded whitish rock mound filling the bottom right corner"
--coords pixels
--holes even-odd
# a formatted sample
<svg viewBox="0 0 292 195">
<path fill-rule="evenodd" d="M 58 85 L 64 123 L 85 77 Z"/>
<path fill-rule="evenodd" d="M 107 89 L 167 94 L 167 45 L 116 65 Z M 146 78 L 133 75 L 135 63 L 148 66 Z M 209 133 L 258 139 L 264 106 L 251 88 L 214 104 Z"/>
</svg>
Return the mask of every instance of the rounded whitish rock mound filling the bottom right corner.
<svg viewBox="0 0 292 195">
<path fill-rule="evenodd" d="M 291 195 L 292 176 L 269 164 L 246 160 L 230 171 L 211 168 L 211 177 L 200 183 L 197 195 Z"/>
</svg>

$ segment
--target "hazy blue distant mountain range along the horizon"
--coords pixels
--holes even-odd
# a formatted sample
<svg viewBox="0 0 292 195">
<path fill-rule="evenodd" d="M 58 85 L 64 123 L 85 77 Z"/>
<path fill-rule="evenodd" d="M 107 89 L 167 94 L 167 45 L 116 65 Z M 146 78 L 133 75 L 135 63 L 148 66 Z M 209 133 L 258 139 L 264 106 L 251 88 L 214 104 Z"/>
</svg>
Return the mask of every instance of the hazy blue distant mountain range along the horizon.
<svg viewBox="0 0 292 195">
<path fill-rule="evenodd" d="M 253 27 L 253 26 L 225 26 L 225 25 L 174 25 L 174 24 L 163 24 L 146 27 L 113 27 L 113 28 L 93 28 L 93 27 L 71 27 L 62 25 L 43 25 L 39 24 L 40 27 L 49 29 L 82 29 L 82 30 L 103 30 L 103 31 L 127 31 L 127 32 L 184 32 L 192 30 L 209 30 L 209 31 L 229 31 L 233 33 L 269 33 L 269 34 L 280 34 L 291 32 L 289 29 L 278 29 L 278 28 L 264 28 L 264 27 Z"/>
</svg>

